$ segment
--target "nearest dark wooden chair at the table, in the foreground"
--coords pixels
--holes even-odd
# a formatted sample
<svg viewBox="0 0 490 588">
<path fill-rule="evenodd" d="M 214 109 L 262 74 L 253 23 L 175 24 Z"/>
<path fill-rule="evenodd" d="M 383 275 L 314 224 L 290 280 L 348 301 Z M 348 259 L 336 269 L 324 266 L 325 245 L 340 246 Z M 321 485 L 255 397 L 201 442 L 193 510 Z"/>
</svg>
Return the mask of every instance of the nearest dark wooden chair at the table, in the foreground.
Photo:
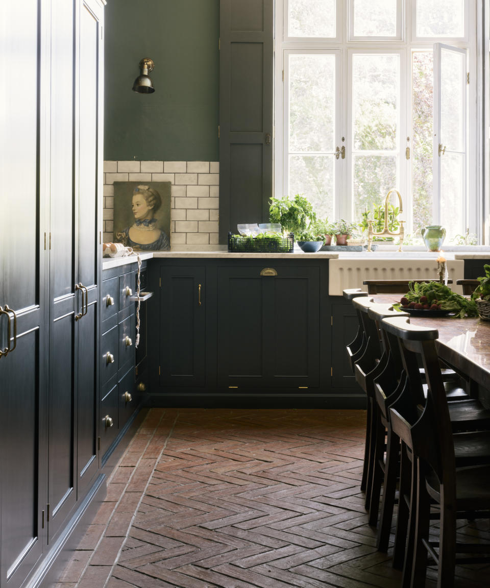
<svg viewBox="0 0 490 588">
<path fill-rule="evenodd" d="M 401 439 L 394 564 L 405 556 L 404 588 L 424 586 L 428 553 L 438 565 L 439 588 L 451 588 L 458 550 L 490 553 L 490 544 L 481 549 L 456 543 L 456 517 L 490 516 L 490 431 L 454 433 L 436 329 L 414 327 L 398 317 L 382 319 L 381 326 L 396 338 L 405 374 L 402 392 L 389 407 L 392 429 Z M 426 399 L 418 359 L 424 365 Z M 431 505 L 439 507 L 432 515 L 441 518 L 438 543 L 429 541 Z M 459 563 L 474 561 L 465 557 Z"/>
</svg>

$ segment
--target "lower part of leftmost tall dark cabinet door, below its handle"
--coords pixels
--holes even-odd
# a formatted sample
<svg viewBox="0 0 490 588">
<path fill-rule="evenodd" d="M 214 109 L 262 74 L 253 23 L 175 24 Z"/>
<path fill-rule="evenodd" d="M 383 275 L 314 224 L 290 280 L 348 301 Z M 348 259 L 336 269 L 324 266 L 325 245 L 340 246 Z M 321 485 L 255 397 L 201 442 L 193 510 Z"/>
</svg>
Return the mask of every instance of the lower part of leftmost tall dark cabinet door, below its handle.
<svg viewBox="0 0 490 588">
<path fill-rule="evenodd" d="M 42 553 L 39 336 L 39 329 L 19 333 L 16 349 L 0 365 L 2 586 L 20 586 Z"/>
</svg>

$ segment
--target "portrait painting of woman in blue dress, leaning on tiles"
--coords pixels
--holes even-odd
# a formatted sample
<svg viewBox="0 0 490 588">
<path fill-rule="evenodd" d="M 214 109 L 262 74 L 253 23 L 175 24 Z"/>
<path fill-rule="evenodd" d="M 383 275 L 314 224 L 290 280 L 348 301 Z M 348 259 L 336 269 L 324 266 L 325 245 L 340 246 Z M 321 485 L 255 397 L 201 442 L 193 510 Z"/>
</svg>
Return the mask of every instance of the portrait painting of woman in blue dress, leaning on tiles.
<svg viewBox="0 0 490 588">
<path fill-rule="evenodd" d="M 118 184 L 123 184 L 123 182 L 118 182 Z M 128 185 L 129 182 L 125 184 L 127 191 L 131 186 Z M 168 198 L 168 208 L 169 205 Z M 116 226 L 114 226 L 116 241 L 123 243 L 126 247 L 131 247 L 134 251 L 170 249 L 169 226 L 168 232 L 165 232 L 161 226 L 161 218 L 157 218 L 157 213 L 161 207 L 162 197 L 158 190 L 146 184 L 134 186 L 131 198 L 131 212 L 134 222 L 120 231 L 116 231 Z M 169 218 L 169 211 L 165 216 Z"/>
</svg>

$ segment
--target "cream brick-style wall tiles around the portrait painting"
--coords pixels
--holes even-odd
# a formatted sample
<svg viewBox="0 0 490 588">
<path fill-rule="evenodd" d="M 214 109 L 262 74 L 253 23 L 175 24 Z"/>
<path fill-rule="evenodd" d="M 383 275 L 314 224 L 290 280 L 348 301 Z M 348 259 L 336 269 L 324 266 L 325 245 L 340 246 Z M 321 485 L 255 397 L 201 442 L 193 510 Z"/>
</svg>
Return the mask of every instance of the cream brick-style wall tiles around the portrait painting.
<svg viewBox="0 0 490 588">
<path fill-rule="evenodd" d="M 218 245 L 219 162 L 104 161 L 104 242 L 114 228 L 114 182 L 171 182 L 171 245 Z"/>
</svg>

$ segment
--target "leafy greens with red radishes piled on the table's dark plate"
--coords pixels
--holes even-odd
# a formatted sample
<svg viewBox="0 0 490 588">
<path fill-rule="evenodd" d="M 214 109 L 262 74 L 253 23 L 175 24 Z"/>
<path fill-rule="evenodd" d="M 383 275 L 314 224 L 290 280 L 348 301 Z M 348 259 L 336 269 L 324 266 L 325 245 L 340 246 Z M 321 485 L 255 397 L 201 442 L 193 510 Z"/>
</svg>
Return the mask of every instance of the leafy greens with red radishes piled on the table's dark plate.
<svg viewBox="0 0 490 588">
<path fill-rule="evenodd" d="M 487 266 L 485 266 L 487 267 Z M 488 266 L 490 270 L 490 266 Z M 456 318 L 478 316 L 474 300 L 456 294 L 439 282 L 410 282 L 409 291 L 400 302 L 393 305 L 396 310 L 449 310 Z"/>
</svg>

